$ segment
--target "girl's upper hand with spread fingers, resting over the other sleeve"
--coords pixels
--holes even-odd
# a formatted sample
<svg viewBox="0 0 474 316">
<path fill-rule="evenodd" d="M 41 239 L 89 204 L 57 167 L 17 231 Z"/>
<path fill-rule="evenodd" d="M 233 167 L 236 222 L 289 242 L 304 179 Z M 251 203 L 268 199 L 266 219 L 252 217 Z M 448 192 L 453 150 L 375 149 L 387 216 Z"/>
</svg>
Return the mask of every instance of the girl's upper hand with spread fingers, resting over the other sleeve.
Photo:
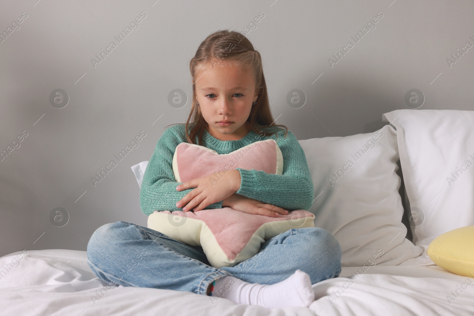
<svg viewBox="0 0 474 316">
<path fill-rule="evenodd" d="M 187 212 L 193 209 L 195 212 L 208 207 L 212 203 L 224 200 L 240 189 L 240 172 L 229 170 L 220 173 L 219 177 L 212 173 L 207 176 L 184 182 L 176 187 L 176 190 L 196 188 L 186 194 L 176 203 L 176 207 Z"/>
</svg>

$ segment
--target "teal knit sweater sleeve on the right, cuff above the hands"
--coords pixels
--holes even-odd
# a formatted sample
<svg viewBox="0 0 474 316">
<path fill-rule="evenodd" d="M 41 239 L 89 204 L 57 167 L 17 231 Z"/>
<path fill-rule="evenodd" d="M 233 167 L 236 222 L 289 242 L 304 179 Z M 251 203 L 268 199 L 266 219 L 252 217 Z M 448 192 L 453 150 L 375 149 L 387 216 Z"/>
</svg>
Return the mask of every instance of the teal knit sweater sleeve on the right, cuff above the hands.
<svg viewBox="0 0 474 316">
<path fill-rule="evenodd" d="M 295 135 L 278 134 L 277 144 L 283 155 L 283 174 L 236 168 L 241 183 L 237 194 L 287 210 L 310 209 L 314 199 L 313 181 L 306 156 Z"/>
</svg>

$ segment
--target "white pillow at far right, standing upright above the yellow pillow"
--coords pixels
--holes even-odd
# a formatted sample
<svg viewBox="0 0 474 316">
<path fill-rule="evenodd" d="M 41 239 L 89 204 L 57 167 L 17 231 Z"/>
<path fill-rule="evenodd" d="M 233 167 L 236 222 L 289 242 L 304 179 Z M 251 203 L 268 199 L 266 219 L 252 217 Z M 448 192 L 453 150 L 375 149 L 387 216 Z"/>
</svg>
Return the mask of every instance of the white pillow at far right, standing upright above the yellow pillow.
<svg viewBox="0 0 474 316">
<path fill-rule="evenodd" d="M 402 109 L 382 120 L 397 129 L 413 243 L 474 225 L 474 111 Z"/>
</svg>

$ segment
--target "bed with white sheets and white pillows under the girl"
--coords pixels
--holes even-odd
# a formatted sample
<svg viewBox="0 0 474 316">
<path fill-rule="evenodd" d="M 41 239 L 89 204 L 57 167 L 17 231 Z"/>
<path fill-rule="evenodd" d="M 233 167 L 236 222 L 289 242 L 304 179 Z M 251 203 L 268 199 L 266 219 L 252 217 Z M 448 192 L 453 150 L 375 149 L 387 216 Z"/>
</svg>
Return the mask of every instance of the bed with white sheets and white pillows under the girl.
<svg viewBox="0 0 474 316">
<path fill-rule="evenodd" d="M 474 225 L 469 191 L 474 176 L 466 172 L 456 179 L 459 185 L 443 187 L 449 184 L 446 174 L 474 149 L 473 113 L 396 110 L 383 115 L 390 124 L 377 137 L 368 133 L 300 141 L 314 181 L 310 211 L 315 225 L 335 235 L 343 249 L 341 274 L 312 285 L 310 307 L 268 309 L 189 292 L 110 286 L 91 271 L 85 251 L 46 249 L 0 258 L 2 315 L 474 315 L 474 278 L 449 272 L 427 255 L 437 235 Z M 467 126 L 464 136 L 456 126 Z M 450 137 L 463 146 L 458 148 Z M 344 165 L 349 153 L 364 144 L 365 156 L 353 166 Z M 413 150 L 420 144 L 425 150 Z M 456 157 L 449 162 L 443 156 L 436 165 L 437 155 L 426 146 L 451 149 Z M 328 181 L 325 170 L 339 166 L 345 172 Z M 456 208 L 447 209 L 446 203 L 457 203 Z M 410 216 L 415 210 L 416 218 Z M 381 248 L 383 255 L 375 259 L 372 254 Z"/>
</svg>

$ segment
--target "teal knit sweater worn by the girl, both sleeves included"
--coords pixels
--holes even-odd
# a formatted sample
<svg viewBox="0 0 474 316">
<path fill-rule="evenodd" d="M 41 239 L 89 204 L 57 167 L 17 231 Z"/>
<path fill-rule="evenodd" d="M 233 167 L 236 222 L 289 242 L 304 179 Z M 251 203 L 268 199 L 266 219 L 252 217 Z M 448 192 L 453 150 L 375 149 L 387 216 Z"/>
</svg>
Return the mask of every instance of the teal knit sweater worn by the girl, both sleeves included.
<svg viewBox="0 0 474 316">
<path fill-rule="evenodd" d="M 219 140 L 204 131 L 202 141 L 204 146 L 217 153 L 227 154 L 256 141 L 275 139 L 283 154 L 283 174 L 236 168 L 241 177 L 240 189 L 236 193 L 289 211 L 308 210 L 313 202 L 314 192 L 303 149 L 292 132 L 288 131 L 285 138 L 284 130 L 273 131 L 277 131 L 278 137 L 274 134 L 263 137 L 251 130 L 244 138 L 230 141 Z M 187 142 L 185 125 L 174 125 L 167 128 L 156 143 L 140 190 L 140 206 L 146 215 L 155 210 L 182 210 L 176 207 L 176 202 L 194 190 L 176 190 L 183 182 L 176 182 L 174 178 L 173 155 L 176 146 L 183 142 Z M 209 208 L 222 208 L 222 201 L 210 204 L 205 209 Z"/>
</svg>

